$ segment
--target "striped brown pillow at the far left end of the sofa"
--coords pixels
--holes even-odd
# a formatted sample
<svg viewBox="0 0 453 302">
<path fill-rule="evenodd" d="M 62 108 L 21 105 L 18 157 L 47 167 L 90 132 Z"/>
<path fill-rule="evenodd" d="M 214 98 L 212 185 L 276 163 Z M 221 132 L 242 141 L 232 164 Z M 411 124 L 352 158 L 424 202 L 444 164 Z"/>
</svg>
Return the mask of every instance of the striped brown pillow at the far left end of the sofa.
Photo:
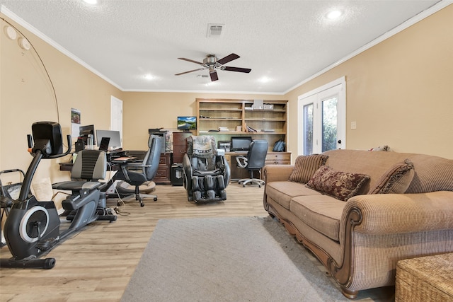
<svg viewBox="0 0 453 302">
<path fill-rule="evenodd" d="M 294 163 L 294 170 L 292 170 L 291 175 L 289 175 L 289 181 L 301 183 L 309 182 L 316 170 L 318 170 L 321 165 L 326 164 L 327 158 L 328 156 L 323 154 L 297 156 L 296 162 Z"/>
</svg>

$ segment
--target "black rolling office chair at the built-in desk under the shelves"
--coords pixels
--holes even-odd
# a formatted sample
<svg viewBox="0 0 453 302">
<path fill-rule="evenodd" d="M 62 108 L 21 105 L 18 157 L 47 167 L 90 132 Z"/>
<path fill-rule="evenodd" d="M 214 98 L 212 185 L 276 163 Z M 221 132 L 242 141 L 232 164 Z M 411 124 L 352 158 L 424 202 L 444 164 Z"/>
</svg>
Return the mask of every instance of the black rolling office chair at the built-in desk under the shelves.
<svg viewBox="0 0 453 302">
<path fill-rule="evenodd" d="M 245 187 L 248 183 L 251 185 L 258 185 L 261 187 L 265 184 L 264 180 L 261 180 L 261 168 L 265 165 L 265 159 L 268 155 L 268 141 L 266 140 L 254 140 L 251 142 L 247 156 L 236 156 L 236 161 L 239 167 L 248 169 L 250 171 L 251 178 L 243 178 L 239 180 L 239 185 L 242 184 Z M 253 178 L 253 171 L 258 170 L 260 178 Z"/>
</svg>

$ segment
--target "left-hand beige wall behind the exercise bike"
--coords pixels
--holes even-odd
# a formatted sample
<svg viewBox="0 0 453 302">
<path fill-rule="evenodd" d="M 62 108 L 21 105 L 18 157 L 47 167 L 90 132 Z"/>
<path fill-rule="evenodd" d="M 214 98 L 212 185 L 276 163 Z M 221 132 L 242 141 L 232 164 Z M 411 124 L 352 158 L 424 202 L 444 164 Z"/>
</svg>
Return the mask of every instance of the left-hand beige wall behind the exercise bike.
<svg viewBox="0 0 453 302">
<path fill-rule="evenodd" d="M 17 39 L 10 40 L 4 34 L 6 22 L 0 24 L 0 170 L 28 168 L 31 156 L 26 136 L 31 134 L 33 122 L 59 122 L 66 137 L 70 134 L 71 108 L 76 108 L 81 110 L 82 124 L 94 123 L 101 129 L 110 127 L 110 95 L 122 98 L 122 91 L 13 23 L 36 52 L 22 50 Z M 68 160 L 69 156 L 42 161 L 37 178 L 50 176 L 52 182 L 68 178 L 69 173 L 60 172 L 56 164 Z"/>
</svg>

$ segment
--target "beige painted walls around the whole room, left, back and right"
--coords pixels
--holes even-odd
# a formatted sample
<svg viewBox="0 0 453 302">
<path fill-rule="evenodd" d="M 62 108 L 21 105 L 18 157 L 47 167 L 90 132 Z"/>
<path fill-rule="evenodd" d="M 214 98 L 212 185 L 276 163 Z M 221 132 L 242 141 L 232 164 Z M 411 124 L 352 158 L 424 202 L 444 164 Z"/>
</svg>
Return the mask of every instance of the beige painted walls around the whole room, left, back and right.
<svg viewBox="0 0 453 302">
<path fill-rule="evenodd" d="M 5 18 L 2 15 L 3 18 Z M 8 20 L 8 18 L 6 18 Z M 122 92 L 24 30 L 50 74 L 58 100 L 38 56 L 0 33 L 0 170 L 26 169 L 26 134 L 38 120 L 59 118 L 69 134 L 70 110 L 81 110 L 82 124 L 110 127 L 110 95 L 123 100 L 123 145 L 146 148 L 147 130 L 176 127 L 177 115 L 195 115 L 195 98 L 268 98 L 289 100 L 289 151 L 297 155 L 297 97 L 346 77 L 347 148 L 369 149 L 388 144 L 395 151 L 453 158 L 453 5 L 425 18 L 287 95 Z M 357 122 L 351 130 L 350 122 Z M 63 158 L 61 161 L 66 161 Z M 52 182 L 66 178 L 47 161 L 38 175 Z M 51 163 L 52 162 L 52 163 Z"/>
</svg>

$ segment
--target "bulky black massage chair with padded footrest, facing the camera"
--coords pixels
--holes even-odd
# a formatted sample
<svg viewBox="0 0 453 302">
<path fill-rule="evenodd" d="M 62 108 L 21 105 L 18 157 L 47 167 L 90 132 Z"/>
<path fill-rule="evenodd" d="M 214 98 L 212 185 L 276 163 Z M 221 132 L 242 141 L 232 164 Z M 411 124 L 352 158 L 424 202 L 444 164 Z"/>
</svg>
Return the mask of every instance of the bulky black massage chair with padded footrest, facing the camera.
<svg viewBox="0 0 453 302">
<path fill-rule="evenodd" d="M 187 190 L 188 201 L 226 200 L 225 188 L 229 184 L 230 168 L 224 156 L 217 154 L 214 137 L 188 137 L 183 169 L 183 186 Z"/>
</svg>

